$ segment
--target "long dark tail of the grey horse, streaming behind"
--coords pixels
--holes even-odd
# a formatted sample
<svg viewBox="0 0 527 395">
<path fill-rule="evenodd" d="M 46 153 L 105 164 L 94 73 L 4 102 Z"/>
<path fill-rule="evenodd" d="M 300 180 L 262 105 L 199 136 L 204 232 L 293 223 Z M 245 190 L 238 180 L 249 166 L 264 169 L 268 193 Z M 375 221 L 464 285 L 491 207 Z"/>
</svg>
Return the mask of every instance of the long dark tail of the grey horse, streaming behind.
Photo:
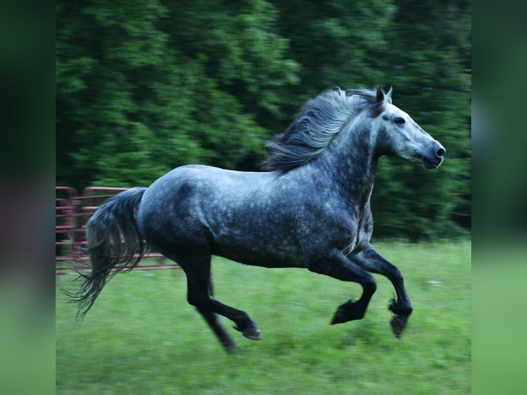
<svg viewBox="0 0 527 395">
<path fill-rule="evenodd" d="M 87 253 L 91 273 L 78 273 L 82 279 L 76 292 L 66 292 L 82 318 L 92 307 L 107 281 L 122 270 L 131 270 L 146 253 L 136 211 L 146 188 L 132 188 L 110 197 L 100 205 L 86 227 Z"/>
</svg>

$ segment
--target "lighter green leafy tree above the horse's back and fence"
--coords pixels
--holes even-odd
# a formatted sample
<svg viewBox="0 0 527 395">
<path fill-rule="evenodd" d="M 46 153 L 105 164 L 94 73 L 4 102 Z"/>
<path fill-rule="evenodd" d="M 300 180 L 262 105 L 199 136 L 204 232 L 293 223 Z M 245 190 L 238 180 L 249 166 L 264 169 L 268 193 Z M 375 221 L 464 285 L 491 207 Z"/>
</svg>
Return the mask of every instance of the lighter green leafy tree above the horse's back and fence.
<svg viewBox="0 0 527 395">
<path fill-rule="evenodd" d="M 297 81 L 266 1 L 59 1 L 56 14 L 58 182 L 149 184 L 189 162 L 263 158 L 266 120 Z"/>
</svg>

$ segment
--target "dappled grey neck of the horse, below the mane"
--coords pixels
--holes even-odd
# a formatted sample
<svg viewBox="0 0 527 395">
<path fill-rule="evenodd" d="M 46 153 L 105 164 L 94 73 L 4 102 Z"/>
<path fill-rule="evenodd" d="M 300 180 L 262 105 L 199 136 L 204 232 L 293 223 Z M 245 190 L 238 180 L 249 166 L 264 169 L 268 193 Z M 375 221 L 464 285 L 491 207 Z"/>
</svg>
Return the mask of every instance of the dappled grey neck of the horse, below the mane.
<svg viewBox="0 0 527 395">
<path fill-rule="evenodd" d="M 363 204 L 372 193 L 378 164 L 371 126 L 365 120 L 352 122 L 334 138 L 325 155 L 334 180 L 349 197 Z"/>
</svg>

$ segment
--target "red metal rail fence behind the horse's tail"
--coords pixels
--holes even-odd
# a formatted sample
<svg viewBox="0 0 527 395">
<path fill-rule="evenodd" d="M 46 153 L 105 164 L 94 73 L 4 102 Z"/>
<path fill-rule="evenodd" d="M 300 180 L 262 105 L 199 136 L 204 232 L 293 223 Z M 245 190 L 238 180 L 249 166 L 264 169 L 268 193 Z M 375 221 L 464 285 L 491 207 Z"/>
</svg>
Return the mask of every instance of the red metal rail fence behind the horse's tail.
<svg viewBox="0 0 527 395">
<path fill-rule="evenodd" d="M 70 273 L 84 270 L 83 262 L 89 257 L 76 246 L 86 246 L 86 223 L 95 213 L 98 206 L 109 197 L 127 188 L 89 186 L 79 194 L 69 186 L 55 187 L 55 273 Z M 141 263 L 136 270 L 153 270 L 162 268 L 179 268 L 176 264 L 165 264 L 165 257 L 160 253 L 149 252 L 144 257 L 157 258 L 157 264 Z"/>
</svg>

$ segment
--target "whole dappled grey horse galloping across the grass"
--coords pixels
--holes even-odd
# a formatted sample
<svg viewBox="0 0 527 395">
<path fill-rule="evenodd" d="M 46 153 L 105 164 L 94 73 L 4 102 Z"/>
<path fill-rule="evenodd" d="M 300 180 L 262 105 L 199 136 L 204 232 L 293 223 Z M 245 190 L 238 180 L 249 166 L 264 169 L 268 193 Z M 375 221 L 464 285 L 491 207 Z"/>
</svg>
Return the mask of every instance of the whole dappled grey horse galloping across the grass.
<svg viewBox="0 0 527 395">
<path fill-rule="evenodd" d="M 437 169 L 445 149 L 391 103 L 392 89 L 330 89 L 308 100 L 267 144 L 262 171 L 176 167 L 148 188 L 104 202 L 87 223 L 92 270 L 69 294 L 83 317 L 107 281 L 131 270 L 149 247 L 184 270 L 187 301 L 226 351 L 237 348 L 217 314 L 248 339 L 261 339 L 249 315 L 214 297 L 211 256 L 266 268 L 307 268 L 361 284 L 332 324 L 362 319 L 383 275 L 396 295 L 391 330 L 399 338 L 412 305 L 400 270 L 370 244 L 370 196 L 380 156 Z"/>
</svg>

